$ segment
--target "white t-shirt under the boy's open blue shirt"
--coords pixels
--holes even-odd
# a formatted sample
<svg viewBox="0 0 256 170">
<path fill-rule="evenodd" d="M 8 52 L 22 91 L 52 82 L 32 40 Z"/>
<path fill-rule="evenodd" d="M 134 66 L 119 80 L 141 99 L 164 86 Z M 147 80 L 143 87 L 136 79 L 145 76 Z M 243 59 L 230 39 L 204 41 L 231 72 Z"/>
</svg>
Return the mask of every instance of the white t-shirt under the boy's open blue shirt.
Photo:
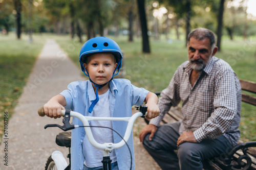
<svg viewBox="0 0 256 170">
<path fill-rule="evenodd" d="M 110 117 L 110 90 L 104 94 L 99 95 L 99 101 L 93 108 L 93 116 L 95 117 Z M 112 128 L 112 121 L 109 120 L 91 120 L 90 126 L 102 126 Z M 99 143 L 110 143 L 114 142 L 113 131 L 109 128 L 91 128 L 94 139 Z M 84 137 L 82 142 L 82 153 L 84 156 L 84 164 L 87 167 L 98 167 L 102 166 L 103 151 L 96 149 L 89 142 L 87 136 Z M 116 154 L 113 150 L 110 153 L 111 163 L 116 162 Z"/>
</svg>

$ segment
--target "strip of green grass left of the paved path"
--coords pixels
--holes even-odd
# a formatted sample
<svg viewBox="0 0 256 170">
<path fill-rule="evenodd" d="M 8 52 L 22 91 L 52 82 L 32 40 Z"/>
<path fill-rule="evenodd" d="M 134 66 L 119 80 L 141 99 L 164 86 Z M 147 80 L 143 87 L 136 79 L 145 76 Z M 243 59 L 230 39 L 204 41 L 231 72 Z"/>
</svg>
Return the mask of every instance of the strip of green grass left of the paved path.
<svg viewBox="0 0 256 170">
<path fill-rule="evenodd" d="M 4 119 L 11 117 L 45 42 L 41 37 L 35 37 L 33 43 L 28 42 L 28 39 L 26 35 L 20 40 L 14 34 L 0 35 L 0 136 L 3 135 Z M 5 113 L 8 113 L 8 119 Z"/>
</svg>

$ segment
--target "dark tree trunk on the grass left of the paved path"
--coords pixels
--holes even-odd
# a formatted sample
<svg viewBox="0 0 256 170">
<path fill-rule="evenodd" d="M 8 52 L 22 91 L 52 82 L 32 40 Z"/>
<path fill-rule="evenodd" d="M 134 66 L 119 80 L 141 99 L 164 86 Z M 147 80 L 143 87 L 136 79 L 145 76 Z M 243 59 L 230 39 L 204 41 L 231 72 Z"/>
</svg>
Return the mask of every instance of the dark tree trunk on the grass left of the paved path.
<svg viewBox="0 0 256 170">
<path fill-rule="evenodd" d="M 13 2 L 16 10 L 16 34 L 17 38 L 20 39 L 22 34 L 22 2 L 20 0 L 13 0 Z"/>
</svg>

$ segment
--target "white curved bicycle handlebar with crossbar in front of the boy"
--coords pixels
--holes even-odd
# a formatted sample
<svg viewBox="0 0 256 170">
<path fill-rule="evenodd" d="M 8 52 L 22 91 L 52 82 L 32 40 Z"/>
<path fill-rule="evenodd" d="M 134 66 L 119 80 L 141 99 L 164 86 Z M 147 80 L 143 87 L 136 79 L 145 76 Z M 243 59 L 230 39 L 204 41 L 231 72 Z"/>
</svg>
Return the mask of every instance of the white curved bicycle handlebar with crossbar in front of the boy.
<svg viewBox="0 0 256 170">
<path fill-rule="evenodd" d="M 61 111 L 62 115 L 65 115 L 65 110 Z M 78 112 L 74 112 L 74 111 L 70 111 L 70 116 L 76 117 L 78 119 L 81 120 L 82 124 L 84 126 L 88 126 L 88 127 L 84 127 L 84 130 L 86 131 L 86 135 L 88 137 L 88 140 L 90 141 L 90 143 L 97 149 L 103 150 L 103 151 L 109 151 L 111 152 L 114 149 L 118 149 L 123 147 L 123 145 L 125 144 L 125 141 L 127 142 L 130 138 L 130 135 L 132 133 L 132 129 L 133 129 L 133 124 L 136 120 L 136 118 L 142 116 L 142 112 L 137 112 L 135 114 L 133 114 L 132 117 L 92 117 L 92 116 L 83 116 L 82 114 L 78 113 Z M 89 127 L 89 122 L 90 120 L 114 120 L 114 121 L 126 121 L 128 122 L 125 134 L 123 139 L 125 140 L 121 140 L 118 143 L 103 143 L 100 144 L 98 143 L 92 134 L 91 128 Z M 75 125 L 75 128 L 77 128 L 79 126 Z"/>
</svg>

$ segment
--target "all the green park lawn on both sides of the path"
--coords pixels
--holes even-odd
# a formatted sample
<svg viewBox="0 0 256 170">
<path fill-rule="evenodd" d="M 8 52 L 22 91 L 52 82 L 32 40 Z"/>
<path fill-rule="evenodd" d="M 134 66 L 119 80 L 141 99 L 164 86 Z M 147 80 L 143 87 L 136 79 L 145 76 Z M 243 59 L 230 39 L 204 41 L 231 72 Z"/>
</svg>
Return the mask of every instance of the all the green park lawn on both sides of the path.
<svg viewBox="0 0 256 170">
<path fill-rule="evenodd" d="M 15 36 L 0 35 L 0 121 L 3 134 L 4 112 L 9 116 L 17 103 L 19 95 L 26 84 L 26 79 L 32 69 L 36 56 L 38 56 L 46 38 L 55 39 L 61 48 L 79 66 L 78 58 L 82 43 L 71 39 L 69 36 L 42 35 L 34 36 L 34 42 L 30 44 L 28 37 L 16 40 Z M 177 67 L 187 60 L 187 51 L 183 40 L 151 39 L 151 54 L 141 53 L 141 40 L 135 38 L 134 42 L 127 42 L 127 37 L 110 37 L 120 46 L 124 54 L 126 78 L 138 86 L 150 91 L 161 91 L 173 77 Z M 83 37 L 83 40 L 86 38 Z M 236 38 L 235 41 L 223 39 L 222 51 L 217 57 L 227 61 L 240 79 L 256 82 L 256 39 L 243 41 Z M 82 74 L 82 72 L 81 72 Z M 242 104 L 241 140 L 256 140 L 256 108 L 248 104 Z"/>
</svg>

